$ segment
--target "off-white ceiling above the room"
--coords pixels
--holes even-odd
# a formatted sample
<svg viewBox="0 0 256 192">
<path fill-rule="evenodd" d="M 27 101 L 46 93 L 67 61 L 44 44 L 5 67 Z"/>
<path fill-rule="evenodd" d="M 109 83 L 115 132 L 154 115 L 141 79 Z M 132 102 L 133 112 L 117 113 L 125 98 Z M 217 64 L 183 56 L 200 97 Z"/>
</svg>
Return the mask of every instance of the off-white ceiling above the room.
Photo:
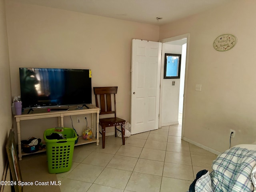
<svg viewBox="0 0 256 192">
<path fill-rule="evenodd" d="M 232 0 L 13 0 L 86 14 L 163 25 Z M 162 19 L 156 19 L 156 18 Z"/>
</svg>

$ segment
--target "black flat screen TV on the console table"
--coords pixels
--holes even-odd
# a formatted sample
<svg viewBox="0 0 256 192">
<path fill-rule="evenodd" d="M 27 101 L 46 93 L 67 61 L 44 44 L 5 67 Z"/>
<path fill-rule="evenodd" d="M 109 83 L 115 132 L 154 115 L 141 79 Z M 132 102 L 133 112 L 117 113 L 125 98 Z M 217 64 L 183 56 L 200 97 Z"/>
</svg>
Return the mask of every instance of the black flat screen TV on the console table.
<svg viewBox="0 0 256 192">
<path fill-rule="evenodd" d="M 92 104 L 89 69 L 20 68 L 22 108 Z"/>
</svg>

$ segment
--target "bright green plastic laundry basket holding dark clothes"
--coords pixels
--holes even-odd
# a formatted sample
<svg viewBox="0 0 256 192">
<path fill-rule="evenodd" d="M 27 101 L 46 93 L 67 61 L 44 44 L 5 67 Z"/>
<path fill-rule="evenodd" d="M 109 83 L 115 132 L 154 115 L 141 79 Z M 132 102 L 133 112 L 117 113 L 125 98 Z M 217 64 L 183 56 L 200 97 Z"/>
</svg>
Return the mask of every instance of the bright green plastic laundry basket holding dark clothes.
<svg viewBox="0 0 256 192">
<path fill-rule="evenodd" d="M 47 139 L 52 133 L 62 134 L 66 139 Z M 72 128 L 51 128 L 44 131 L 49 173 L 62 173 L 70 170 L 77 135 Z"/>
</svg>

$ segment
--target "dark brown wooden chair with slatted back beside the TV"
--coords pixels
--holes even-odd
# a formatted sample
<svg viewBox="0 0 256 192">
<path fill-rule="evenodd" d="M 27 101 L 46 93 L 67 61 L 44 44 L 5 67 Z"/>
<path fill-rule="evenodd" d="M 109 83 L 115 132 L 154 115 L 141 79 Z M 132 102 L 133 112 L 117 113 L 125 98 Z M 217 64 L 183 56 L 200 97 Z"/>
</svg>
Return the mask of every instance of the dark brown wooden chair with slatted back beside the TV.
<svg viewBox="0 0 256 192">
<path fill-rule="evenodd" d="M 96 106 L 100 108 L 100 115 L 103 114 L 114 114 L 114 117 L 111 118 L 101 118 L 99 121 L 99 124 L 102 128 L 102 148 L 105 148 L 105 134 L 106 134 L 106 127 L 113 127 L 115 126 L 115 136 L 116 136 L 116 126 L 121 126 L 121 130 L 118 130 L 122 132 L 122 141 L 123 145 L 125 144 L 124 141 L 124 124 L 125 120 L 120 119 L 116 117 L 116 93 L 117 93 L 118 87 L 94 87 L 94 94 L 95 94 L 95 100 L 96 100 Z M 98 96 L 99 95 L 99 96 Z M 112 109 L 112 99 L 114 95 L 114 110 Z M 98 102 L 98 97 L 100 99 L 100 106 Z"/>
</svg>

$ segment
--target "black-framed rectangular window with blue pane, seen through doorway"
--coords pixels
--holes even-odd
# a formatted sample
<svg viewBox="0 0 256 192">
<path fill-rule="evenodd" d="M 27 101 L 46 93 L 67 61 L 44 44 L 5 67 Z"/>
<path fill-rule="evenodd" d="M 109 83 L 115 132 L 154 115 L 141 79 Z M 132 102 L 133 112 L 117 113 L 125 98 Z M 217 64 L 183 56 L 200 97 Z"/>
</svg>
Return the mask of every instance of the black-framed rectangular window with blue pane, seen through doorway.
<svg viewBox="0 0 256 192">
<path fill-rule="evenodd" d="M 164 59 L 164 79 L 180 78 L 181 54 L 166 53 Z"/>
</svg>

